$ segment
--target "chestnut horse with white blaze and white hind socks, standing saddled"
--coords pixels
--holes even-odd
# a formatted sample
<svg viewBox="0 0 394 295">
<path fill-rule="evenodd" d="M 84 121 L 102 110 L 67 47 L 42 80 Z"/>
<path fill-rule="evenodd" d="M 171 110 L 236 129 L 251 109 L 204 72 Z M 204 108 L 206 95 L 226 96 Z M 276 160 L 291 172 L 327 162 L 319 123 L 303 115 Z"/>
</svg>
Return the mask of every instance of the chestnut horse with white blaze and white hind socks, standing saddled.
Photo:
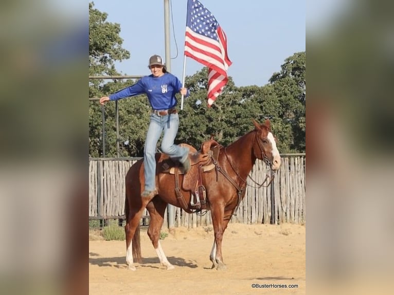
<svg viewBox="0 0 394 295">
<path fill-rule="evenodd" d="M 267 119 L 261 125 L 255 120 L 253 120 L 253 123 L 255 125 L 253 131 L 246 133 L 225 148 L 221 146 L 216 173 L 215 170 L 203 173 L 206 199 L 211 211 L 214 231 L 214 241 L 209 256 L 212 268 L 225 268 L 222 259 L 223 233 L 239 201 L 245 195 L 246 178 L 256 159 L 266 161 L 274 171 L 280 168 L 280 155 L 276 148 L 275 138 L 271 133 L 270 120 Z M 221 173 L 218 173 L 218 171 Z M 180 175 L 180 179 L 182 177 L 183 175 Z M 172 269 L 174 266 L 167 260 L 160 245 L 159 236 L 167 204 L 181 207 L 175 194 L 174 175 L 157 171 L 157 195 L 151 198 L 140 196 L 144 189 L 144 181 L 144 161 L 140 159 L 132 165 L 126 175 L 126 263 L 129 269 L 135 270 L 133 259 L 138 263 L 142 261 L 139 220 L 144 209 L 147 208 L 150 215 L 148 235 L 156 250 L 160 264 L 167 269 Z M 182 194 L 187 204 L 189 204 L 191 193 L 182 190 Z"/>
</svg>

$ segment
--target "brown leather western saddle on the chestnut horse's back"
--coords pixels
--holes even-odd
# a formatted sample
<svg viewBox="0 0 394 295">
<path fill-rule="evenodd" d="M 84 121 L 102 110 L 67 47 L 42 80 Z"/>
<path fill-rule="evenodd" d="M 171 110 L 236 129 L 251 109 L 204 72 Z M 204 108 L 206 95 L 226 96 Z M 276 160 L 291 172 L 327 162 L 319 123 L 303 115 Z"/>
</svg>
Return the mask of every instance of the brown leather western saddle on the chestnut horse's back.
<svg viewBox="0 0 394 295">
<path fill-rule="evenodd" d="M 175 178 L 176 198 L 183 210 L 193 213 L 193 210 L 201 211 L 208 209 L 206 190 L 203 183 L 203 173 L 209 173 L 215 169 L 219 157 L 221 145 L 213 139 L 204 141 L 201 150 L 197 151 L 193 146 L 181 143 L 189 149 L 190 170 L 185 174 L 182 165 L 170 158 L 158 160 L 159 173 L 173 174 Z M 182 189 L 191 192 L 190 204 L 187 204 L 180 187 L 179 175 L 183 176 Z"/>
</svg>

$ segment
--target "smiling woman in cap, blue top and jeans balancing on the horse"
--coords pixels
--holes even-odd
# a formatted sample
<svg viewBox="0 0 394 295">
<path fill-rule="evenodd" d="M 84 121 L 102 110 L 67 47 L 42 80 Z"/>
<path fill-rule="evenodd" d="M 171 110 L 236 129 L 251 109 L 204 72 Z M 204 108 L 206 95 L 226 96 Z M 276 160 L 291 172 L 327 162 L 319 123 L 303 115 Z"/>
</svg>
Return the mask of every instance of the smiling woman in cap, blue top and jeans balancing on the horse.
<svg viewBox="0 0 394 295">
<path fill-rule="evenodd" d="M 163 131 L 162 152 L 168 154 L 172 159 L 180 161 L 185 172 L 190 169 L 189 149 L 174 144 L 179 125 L 175 94 L 179 92 L 188 97 L 189 90 L 182 86 L 178 78 L 167 72 L 161 57 L 157 55 L 152 56 L 149 59 L 148 67 L 152 75 L 142 77 L 136 84 L 124 88 L 109 97 L 104 96 L 100 98 L 100 103 L 104 104 L 110 100 L 146 94 L 152 106 L 144 148 L 145 190 L 141 194 L 142 197 L 152 197 L 156 194 L 155 152 L 157 141 Z"/>
</svg>

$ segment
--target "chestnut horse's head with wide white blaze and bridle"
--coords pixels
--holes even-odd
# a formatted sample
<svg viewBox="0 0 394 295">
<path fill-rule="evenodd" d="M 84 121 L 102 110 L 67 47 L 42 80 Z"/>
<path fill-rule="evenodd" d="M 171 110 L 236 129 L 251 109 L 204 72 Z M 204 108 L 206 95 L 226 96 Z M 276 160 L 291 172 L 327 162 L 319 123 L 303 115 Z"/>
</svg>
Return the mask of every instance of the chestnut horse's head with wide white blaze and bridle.
<svg viewBox="0 0 394 295">
<path fill-rule="evenodd" d="M 264 124 L 253 120 L 256 127 L 256 142 L 253 145 L 255 157 L 260 160 L 269 161 L 272 170 L 280 168 L 280 155 L 276 148 L 275 137 L 271 133 L 271 122 L 266 119 Z"/>
</svg>

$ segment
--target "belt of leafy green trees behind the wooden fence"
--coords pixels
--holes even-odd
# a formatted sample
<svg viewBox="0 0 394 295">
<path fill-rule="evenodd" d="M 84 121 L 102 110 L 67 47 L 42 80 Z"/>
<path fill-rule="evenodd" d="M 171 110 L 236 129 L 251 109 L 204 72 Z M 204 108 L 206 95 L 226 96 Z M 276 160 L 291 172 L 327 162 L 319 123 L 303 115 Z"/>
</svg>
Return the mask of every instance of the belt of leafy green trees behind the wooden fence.
<svg viewBox="0 0 394 295">
<path fill-rule="evenodd" d="M 127 59 L 121 48 L 120 26 L 106 22 L 106 13 L 89 3 L 89 75 L 119 75 L 114 61 Z M 281 153 L 305 151 L 305 52 L 293 54 L 264 86 L 236 87 L 231 77 L 212 107 L 207 107 L 208 70 L 206 67 L 186 77 L 190 97 L 180 111 L 180 128 L 175 143 L 186 142 L 196 149 L 210 136 L 222 145 L 234 142 L 254 128 L 252 119 L 270 118 Z M 134 80 L 89 82 L 89 96 L 101 97 L 130 86 Z M 180 104 L 181 96 L 177 94 Z M 141 157 L 149 125 L 150 105 L 145 95 L 118 101 L 119 138 L 116 138 L 115 103 L 104 106 L 106 156 L 116 156 L 119 140 L 121 156 Z M 101 106 L 89 106 L 89 153 L 102 156 Z"/>
</svg>

